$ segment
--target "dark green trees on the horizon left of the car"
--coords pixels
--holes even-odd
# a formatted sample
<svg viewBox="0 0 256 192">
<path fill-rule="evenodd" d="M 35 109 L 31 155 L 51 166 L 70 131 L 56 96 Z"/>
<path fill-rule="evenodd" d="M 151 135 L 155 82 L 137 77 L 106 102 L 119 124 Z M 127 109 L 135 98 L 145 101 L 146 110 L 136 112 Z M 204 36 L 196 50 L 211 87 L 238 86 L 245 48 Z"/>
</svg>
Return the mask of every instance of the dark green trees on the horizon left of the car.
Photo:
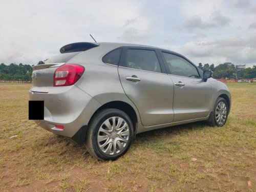
<svg viewBox="0 0 256 192">
<path fill-rule="evenodd" d="M 32 67 L 30 65 L 23 65 L 23 63 L 11 63 L 0 65 L 0 80 L 1 81 L 26 81 L 32 80 Z"/>
</svg>

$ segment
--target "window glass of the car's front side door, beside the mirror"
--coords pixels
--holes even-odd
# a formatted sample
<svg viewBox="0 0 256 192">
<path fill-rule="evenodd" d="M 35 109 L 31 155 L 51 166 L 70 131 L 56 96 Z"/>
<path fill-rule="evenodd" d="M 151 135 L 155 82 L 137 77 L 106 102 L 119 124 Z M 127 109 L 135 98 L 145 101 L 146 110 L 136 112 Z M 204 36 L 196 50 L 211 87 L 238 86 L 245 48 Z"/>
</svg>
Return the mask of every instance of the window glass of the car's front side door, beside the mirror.
<svg viewBox="0 0 256 192">
<path fill-rule="evenodd" d="M 185 77 L 200 77 L 195 66 L 190 62 L 170 53 L 162 52 L 167 66 L 170 70 L 170 74 L 185 76 Z"/>
</svg>

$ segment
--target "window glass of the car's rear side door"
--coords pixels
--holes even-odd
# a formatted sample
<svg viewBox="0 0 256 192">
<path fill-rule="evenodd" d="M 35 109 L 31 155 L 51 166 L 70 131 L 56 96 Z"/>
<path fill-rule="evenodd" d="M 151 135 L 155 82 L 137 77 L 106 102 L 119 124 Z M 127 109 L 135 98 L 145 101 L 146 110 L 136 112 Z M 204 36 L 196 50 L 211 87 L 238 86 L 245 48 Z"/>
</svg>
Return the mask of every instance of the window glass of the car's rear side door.
<svg viewBox="0 0 256 192">
<path fill-rule="evenodd" d="M 124 62 L 124 67 L 161 73 L 156 52 L 153 50 L 127 49 Z"/>
</svg>

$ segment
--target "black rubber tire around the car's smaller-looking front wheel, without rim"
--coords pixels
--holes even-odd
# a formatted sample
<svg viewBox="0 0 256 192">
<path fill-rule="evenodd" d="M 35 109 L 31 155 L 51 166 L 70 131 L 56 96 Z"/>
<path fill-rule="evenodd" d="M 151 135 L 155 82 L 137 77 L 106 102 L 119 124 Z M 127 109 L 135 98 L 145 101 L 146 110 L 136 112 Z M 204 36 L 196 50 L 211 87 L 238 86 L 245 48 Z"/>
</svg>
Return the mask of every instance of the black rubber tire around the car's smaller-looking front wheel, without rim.
<svg viewBox="0 0 256 192">
<path fill-rule="evenodd" d="M 225 119 L 222 121 L 218 121 L 218 105 L 220 105 L 221 103 L 224 103 L 225 104 L 225 107 L 226 107 L 226 117 Z M 227 101 L 222 98 L 222 97 L 219 97 L 214 105 L 214 109 L 212 110 L 212 112 L 210 113 L 210 116 L 207 120 L 208 124 L 210 126 L 223 126 L 225 125 L 226 121 L 227 121 L 227 117 L 228 117 L 228 113 L 229 113 L 229 109 L 228 109 L 228 104 L 227 104 Z M 223 113 L 225 114 L 225 113 Z M 225 115 L 224 115 L 225 116 Z"/>
</svg>

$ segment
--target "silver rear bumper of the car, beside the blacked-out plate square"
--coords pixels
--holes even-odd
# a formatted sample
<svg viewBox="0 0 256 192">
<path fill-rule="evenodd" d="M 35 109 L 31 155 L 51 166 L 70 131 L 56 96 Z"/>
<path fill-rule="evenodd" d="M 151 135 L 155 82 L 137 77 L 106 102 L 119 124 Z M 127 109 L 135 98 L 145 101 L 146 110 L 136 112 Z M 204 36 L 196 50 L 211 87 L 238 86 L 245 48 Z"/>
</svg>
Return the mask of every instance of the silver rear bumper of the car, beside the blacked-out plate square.
<svg viewBox="0 0 256 192">
<path fill-rule="evenodd" d="M 101 106 L 76 86 L 32 87 L 29 95 L 30 100 L 44 100 L 44 120 L 34 121 L 47 131 L 66 137 L 73 137 L 82 126 L 87 125 Z M 63 130 L 55 125 L 62 125 Z"/>
</svg>

